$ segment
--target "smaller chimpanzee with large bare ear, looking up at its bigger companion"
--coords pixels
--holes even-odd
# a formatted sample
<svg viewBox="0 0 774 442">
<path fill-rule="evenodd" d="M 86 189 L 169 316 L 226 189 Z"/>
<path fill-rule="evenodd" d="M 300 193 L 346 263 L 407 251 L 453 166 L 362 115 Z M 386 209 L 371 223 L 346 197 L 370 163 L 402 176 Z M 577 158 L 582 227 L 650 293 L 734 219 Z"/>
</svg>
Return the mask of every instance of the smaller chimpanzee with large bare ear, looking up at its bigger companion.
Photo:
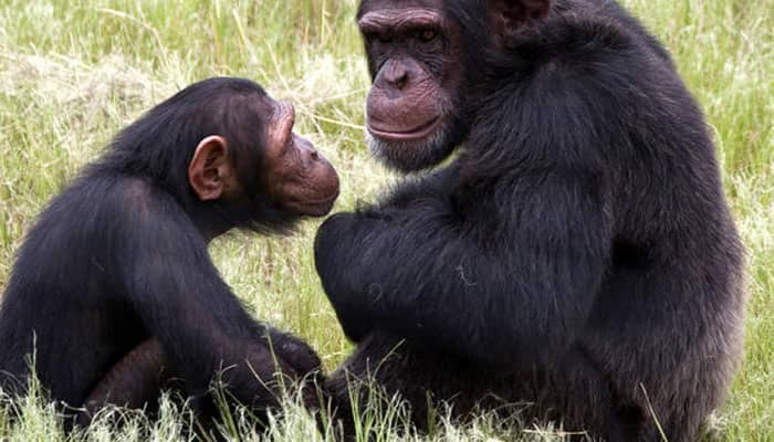
<svg viewBox="0 0 774 442">
<path fill-rule="evenodd" d="M 274 376 L 320 361 L 250 317 L 207 245 L 232 228 L 289 232 L 331 210 L 336 172 L 293 123 L 292 106 L 255 83 L 211 78 L 124 129 L 19 252 L 0 311 L 3 388 L 23 392 L 34 352 L 41 383 L 70 406 L 90 393 L 92 406 L 142 406 L 161 364 L 200 409 L 221 369 L 240 402 L 276 406 Z"/>
</svg>

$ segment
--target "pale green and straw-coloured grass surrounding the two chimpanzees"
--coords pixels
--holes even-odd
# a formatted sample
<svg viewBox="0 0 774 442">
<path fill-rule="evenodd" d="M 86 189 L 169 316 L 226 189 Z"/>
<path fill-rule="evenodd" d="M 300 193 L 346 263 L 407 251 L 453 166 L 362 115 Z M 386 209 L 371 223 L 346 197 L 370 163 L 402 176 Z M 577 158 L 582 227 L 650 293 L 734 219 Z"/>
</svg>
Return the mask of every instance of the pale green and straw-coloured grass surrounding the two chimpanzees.
<svg viewBox="0 0 774 442">
<path fill-rule="evenodd" d="M 720 440 L 774 440 L 774 1 L 626 0 L 674 54 L 707 112 L 726 192 L 749 251 L 746 357 L 711 427 Z M 117 129 L 178 88 L 212 75 L 262 83 L 297 108 L 297 130 L 342 176 L 336 210 L 368 200 L 394 179 L 368 158 L 368 86 L 354 0 L 0 0 L 0 287 L 25 229 L 46 201 Z M 335 367 L 351 345 L 320 287 L 311 256 L 315 222 L 294 238 L 232 234 L 211 248 L 223 277 L 257 317 L 290 329 Z M 297 407 L 270 440 L 321 440 Z M 0 412 L 1 441 L 64 440 L 50 406 L 32 396 Z M 364 419 L 378 440 L 402 411 Z M 385 417 L 386 415 L 386 417 Z M 170 403 L 148 423 L 98 420 L 73 440 L 179 440 Z M 237 417 L 244 439 L 258 439 Z M 504 428 L 505 427 L 505 428 Z M 524 440 L 561 440 L 531 430 Z M 440 419 L 430 440 L 512 440 L 489 417 L 456 427 Z"/>
</svg>

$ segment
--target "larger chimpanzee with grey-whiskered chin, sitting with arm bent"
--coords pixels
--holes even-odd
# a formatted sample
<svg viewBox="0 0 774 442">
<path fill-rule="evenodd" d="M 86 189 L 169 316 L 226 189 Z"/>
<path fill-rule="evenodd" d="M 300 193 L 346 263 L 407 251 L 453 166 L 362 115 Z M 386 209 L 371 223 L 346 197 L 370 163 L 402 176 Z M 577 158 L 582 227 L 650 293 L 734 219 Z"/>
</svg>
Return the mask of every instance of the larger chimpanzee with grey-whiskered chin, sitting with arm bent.
<svg viewBox="0 0 774 442">
<path fill-rule="evenodd" d="M 420 170 L 462 147 L 320 229 L 358 345 L 332 388 L 374 370 L 420 424 L 431 391 L 694 440 L 741 354 L 743 251 L 667 51 L 609 0 L 363 0 L 358 25 L 376 157 Z"/>
</svg>

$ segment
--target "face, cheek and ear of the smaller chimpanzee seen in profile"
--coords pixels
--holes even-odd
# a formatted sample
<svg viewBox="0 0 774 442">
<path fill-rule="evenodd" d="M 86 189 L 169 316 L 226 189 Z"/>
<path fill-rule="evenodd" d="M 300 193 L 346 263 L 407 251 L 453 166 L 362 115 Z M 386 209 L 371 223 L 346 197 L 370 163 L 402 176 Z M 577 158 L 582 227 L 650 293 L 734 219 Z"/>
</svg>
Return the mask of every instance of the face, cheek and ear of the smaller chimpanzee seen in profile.
<svg viewBox="0 0 774 442">
<path fill-rule="evenodd" d="M 201 201 L 221 200 L 231 209 L 242 208 L 248 218 L 254 201 L 293 217 L 326 214 L 338 197 L 336 170 L 308 140 L 293 133 L 293 106 L 266 95 L 257 94 L 255 99 L 259 102 L 242 112 L 258 115 L 244 118 L 241 124 L 252 120 L 263 130 L 242 139 L 236 134 L 211 135 L 199 143 L 188 168 L 188 181 L 195 193 Z M 240 131 L 251 133 L 247 127 Z M 237 155 L 237 143 L 249 146 L 242 148 L 242 154 L 250 150 L 247 156 Z M 245 170 L 243 161 L 252 156 L 260 156 L 259 161 L 249 162 L 258 168 Z"/>
</svg>

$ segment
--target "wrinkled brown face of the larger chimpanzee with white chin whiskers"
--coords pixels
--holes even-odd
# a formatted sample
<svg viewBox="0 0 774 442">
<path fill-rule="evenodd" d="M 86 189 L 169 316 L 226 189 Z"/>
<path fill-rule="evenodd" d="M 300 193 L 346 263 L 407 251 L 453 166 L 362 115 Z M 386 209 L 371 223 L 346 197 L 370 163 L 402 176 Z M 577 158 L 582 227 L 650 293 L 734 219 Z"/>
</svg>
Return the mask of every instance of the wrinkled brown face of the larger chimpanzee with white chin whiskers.
<svg viewBox="0 0 774 442">
<path fill-rule="evenodd" d="M 402 171 L 431 167 L 461 141 L 459 25 L 439 1 L 369 2 L 358 14 L 373 87 L 366 102 L 374 156 Z"/>
</svg>

